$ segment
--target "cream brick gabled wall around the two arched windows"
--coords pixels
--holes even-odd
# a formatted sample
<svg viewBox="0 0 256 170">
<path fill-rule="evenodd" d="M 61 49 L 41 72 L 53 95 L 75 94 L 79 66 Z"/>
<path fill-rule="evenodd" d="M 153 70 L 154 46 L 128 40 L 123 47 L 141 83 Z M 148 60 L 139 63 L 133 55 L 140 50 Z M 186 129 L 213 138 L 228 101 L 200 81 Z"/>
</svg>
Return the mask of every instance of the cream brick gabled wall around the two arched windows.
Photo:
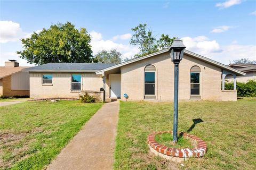
<svg viewBox="0 0 256 170">
<path fill-rule="evenodd" d="M 159 54 L 145 60 L 121 67 L 121 98 L 127 94 L 130 100 L 144 99 L 144 69 L 148 64 L 156 67 L 156 100 L 172 101 L 174 85 L 174 64 L 169 53 Z M 226 100 L 221 91 L 221 69 L 190 56 L 184 56 L 179 64 L 179 100 L 190 99 L 190 69 L 201 68 L 200 95 L 203 100 Z M 236 97 L 229 99 L 236 100 Z"/>
</svg>

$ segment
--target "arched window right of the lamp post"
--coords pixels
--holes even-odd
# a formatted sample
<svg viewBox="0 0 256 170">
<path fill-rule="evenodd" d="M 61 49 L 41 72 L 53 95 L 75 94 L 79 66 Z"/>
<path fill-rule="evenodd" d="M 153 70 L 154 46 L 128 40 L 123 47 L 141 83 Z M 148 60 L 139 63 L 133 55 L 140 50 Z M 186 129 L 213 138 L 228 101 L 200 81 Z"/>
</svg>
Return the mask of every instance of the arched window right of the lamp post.
<svg viewBox="0 0 256 170">
<path fill-rule="evenodd" d="M 190 69 L 190 95 L 200 95 L 200 72 L 198 66 L 193 66 Z"/>
</svg>

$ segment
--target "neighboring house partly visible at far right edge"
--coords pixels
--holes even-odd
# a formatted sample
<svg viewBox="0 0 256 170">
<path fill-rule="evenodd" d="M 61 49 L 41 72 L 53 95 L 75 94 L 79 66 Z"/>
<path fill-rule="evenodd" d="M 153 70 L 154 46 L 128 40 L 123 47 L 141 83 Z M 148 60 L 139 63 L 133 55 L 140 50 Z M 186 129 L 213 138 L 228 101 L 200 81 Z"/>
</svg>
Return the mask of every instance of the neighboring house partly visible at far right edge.
<svg viewBox="0 0 256 170">
<path fill-rule="evenodd" d="M 229 64 L 228 66 L 246 73 L 246 75 L 240 75 L 236 77 L 237 82 L 246 83 L 248 80 L 256 81 L 256 64 Z M 233 75 L 227 75 L 225 80 L 228 82 L 234 82 Z"/>
</svg>

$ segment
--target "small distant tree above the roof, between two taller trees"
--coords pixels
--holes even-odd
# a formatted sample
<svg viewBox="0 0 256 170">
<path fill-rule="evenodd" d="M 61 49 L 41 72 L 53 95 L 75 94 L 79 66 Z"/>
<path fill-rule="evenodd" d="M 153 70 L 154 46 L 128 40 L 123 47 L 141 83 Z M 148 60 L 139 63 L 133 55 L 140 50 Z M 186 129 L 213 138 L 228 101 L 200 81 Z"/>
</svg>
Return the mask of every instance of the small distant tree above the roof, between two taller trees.
<svg viewBox="0 0 256 170">
<path fill-rule="evenodd" d="M 116 49 L 101 50 L 98 54 L 95 55 L 95 61 L 99 63 L 121 63 L 122 54 L 118 52 Z"/>
</svg>

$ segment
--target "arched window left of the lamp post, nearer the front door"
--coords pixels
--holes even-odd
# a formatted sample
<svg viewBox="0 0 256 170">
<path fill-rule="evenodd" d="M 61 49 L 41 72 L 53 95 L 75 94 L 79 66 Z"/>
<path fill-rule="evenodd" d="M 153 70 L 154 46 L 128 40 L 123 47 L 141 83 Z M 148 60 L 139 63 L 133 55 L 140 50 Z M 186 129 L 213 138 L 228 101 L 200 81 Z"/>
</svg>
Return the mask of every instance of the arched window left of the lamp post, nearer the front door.
<svg viewBox="0 0 256 170">
<path fill-rule="evenodd" d="M 155 72 L 156 67 L 154 65 L 147 65 L 145 67 L 145 99 L 156 98 L 155 97 Z"/>
</svg>

